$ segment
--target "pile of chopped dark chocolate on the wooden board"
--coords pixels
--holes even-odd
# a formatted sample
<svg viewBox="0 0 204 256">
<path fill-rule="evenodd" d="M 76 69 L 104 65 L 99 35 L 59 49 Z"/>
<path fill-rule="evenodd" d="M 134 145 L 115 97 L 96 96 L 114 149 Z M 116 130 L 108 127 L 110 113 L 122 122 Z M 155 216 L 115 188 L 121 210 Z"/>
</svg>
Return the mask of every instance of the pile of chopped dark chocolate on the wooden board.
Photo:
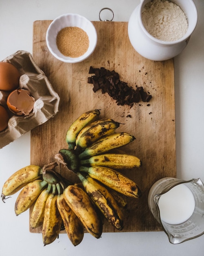
<svg viewBox="0 0 204 256">
<path fill-rule="evenodd" d="M 89 74 L 95 74 L 88 77 L 88 83 L 93 84 L 93 91 L 97 92 L 101 89 L 102 94 L 107 92 L 112 99 L 116 100 L 117 105 L 132 107 L 133 103 L 138 103 L 140 100 L 149 102 L 151 99 L 151 95 L 148 95 L 142 86 L 136 87 L 136 90 L 134 90 L 126 82 L 121 81 L 119 74 L 114 70 L 110 71 L 104 67 L 94 68 L 90 66 Z"/>
</svg>

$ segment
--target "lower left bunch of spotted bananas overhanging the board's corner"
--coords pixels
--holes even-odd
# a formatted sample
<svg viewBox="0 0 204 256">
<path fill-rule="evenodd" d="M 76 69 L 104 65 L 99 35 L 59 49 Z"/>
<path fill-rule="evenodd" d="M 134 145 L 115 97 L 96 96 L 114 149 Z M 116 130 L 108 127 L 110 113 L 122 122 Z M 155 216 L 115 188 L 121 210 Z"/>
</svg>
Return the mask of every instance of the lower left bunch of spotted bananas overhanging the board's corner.
<svg viewBox="0 0 204 256">
<path fill-rule="evenodd" d="M 30 226 L 42 226 L 44 246 L 52 243 L 64 227 L 73 245 L 83 239 L 84 228 L 96 238 L 103 229 L 101 216 L 80 184 L 70 184 L 55 171 L 57 163 L 43 168 L 29 165 L 16 171 L 4 183 L 2 200 L 18 194 L 15 214 L 32 207 Z"/>
</svg>

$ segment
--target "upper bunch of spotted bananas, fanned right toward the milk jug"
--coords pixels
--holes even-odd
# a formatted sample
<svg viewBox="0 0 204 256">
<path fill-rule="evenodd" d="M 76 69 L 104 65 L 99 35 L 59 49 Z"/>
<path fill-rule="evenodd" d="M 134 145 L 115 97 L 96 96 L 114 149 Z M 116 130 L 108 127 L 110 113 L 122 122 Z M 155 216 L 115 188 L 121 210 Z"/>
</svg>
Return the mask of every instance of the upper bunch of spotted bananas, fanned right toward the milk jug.
<svg viewBox="0 0 204 256">
<path fill-rule="evenodd" d="M 120 170 L 140 167 L 142 162 L 123 151 L 116 153 L 135 137 L 127 132 L 116 132 L 120 124 L 112 119 L 99 119 L 99 115 L 99 110 L 91 110 L 77 118 L 66 133 L 68 149 L 59 150 L 55 159 L 77 174 L 103 217 L 122 230 L 121 207 L 127 204 L 123 195 L 139 198 L 141 191 Z"/>
</svg>

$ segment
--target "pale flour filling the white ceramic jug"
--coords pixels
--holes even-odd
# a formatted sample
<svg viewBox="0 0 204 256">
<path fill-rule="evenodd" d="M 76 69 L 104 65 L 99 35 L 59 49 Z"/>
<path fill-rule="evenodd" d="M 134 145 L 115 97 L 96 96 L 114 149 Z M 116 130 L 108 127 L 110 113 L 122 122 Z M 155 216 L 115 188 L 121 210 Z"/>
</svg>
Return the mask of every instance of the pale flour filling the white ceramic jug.
<svg viewBox="0 0 204 256">
<path fill-rule="evenodd" d="M 142 22 L 151 36 L 162 41 L 179 40 L 188 29 L 182 9 L 168 0 L 152 0 L 145 4 Z"/>
</svg>

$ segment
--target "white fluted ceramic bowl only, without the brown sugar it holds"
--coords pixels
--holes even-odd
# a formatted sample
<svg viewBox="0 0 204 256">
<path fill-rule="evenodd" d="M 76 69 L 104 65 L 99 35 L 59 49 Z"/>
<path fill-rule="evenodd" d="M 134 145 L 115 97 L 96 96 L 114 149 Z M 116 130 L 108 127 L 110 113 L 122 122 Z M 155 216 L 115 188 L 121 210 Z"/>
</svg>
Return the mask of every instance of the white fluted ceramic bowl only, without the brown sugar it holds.
<svg viewBox="0 0 204 256">
<path fill-rule="evenodd" d="M 87 33 L 89 38 L 89 47 L 85 54 L 77 58 L 71 58 L 61 54 L 57 48 L 56 38 L 58 32 L 64 27 L 79 27 Z M 87 18 L 76 13 L 66 13 L 51 22 L 46 33 L 46 43 L 51 54 L 53 54 L 53 56 L 58 60 L 67 63 L 77 63 L 88 58 L 94 51 L 97 45 L 97 31 L 92 22 Z"/>
</svg>

